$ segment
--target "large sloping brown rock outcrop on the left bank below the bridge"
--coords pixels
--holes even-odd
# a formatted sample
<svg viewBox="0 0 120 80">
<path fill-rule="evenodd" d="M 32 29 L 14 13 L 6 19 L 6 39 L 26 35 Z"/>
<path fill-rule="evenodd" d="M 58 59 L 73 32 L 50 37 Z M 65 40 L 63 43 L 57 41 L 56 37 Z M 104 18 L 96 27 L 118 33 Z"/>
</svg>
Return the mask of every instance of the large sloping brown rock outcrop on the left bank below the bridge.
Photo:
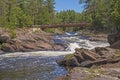
<svg viewBox="0 0 120 80">
<path fill-rule="evenodd" d="M 46 51 L 65 50 L 65 45 L 54 43 L 52 36 L 42 32 L 18 31 L 16 38 L 7 40 L 3 44 L 2 50 L 5 52 L 26 52 L 26 51 Z"/>
</svg>

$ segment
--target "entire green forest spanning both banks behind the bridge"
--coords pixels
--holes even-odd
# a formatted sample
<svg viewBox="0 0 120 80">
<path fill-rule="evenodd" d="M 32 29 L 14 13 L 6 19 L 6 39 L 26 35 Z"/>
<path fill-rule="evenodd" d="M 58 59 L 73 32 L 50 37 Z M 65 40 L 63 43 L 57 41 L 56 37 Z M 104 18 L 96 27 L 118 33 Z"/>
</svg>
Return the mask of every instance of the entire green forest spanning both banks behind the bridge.
<svg viewBox="0 0 120 80">
<path fill-rule="evenodd" d="M 82 13 L 55 11 L 54 0 L 0 0 L 0 27 L 23 28 L 63 22 L 91 22 L 91 30 L 120 27 L 120 0 L 79 0 Z M 72 6 L 72 5 L 71 5 Z"/>
</svg>

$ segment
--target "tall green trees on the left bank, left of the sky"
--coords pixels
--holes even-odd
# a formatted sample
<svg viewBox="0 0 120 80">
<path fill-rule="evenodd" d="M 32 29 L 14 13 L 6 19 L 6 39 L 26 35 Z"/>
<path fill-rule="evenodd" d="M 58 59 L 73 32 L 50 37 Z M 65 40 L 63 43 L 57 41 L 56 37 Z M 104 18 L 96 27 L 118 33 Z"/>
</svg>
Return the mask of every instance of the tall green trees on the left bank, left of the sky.
<svg viewBox="0 0 120 80">
<path fill-rule="evenodd" d="M 0 0 L 0 27 L 53 23 L 54 0 Z"/>
</svg>

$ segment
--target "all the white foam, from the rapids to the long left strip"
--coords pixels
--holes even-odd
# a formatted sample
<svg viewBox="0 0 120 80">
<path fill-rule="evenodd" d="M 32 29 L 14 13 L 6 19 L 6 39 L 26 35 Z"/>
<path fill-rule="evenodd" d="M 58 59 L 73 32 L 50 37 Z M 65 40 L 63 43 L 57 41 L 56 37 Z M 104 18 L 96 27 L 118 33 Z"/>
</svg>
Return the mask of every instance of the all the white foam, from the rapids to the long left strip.
<svg viewBox="0 0 120 80">
<path fill-rule="evenodd" d="M 71 35 L 70 33 L 66 33 L 67 35 Z M 77 34 L 77 33 L 75 33 Z M 59 37 L 61 40 L 65 41 L 68 44 L 67 51 L 35 51 L 35 52 L 16 52 L 16 53 L 8 53 L 0 55 L 0 57 L 29 57 L 29 56 L 41 56 L 41 57 L 49 57 L 49 56 L 61 56 L 66 54 L 72 54 L 75 52 L 75 48 L 86 48 L 93 49 L 95 47 L 106 47 L 109 46 L 109 43 L 105 42 L 94 42 L 85 39 L 80 39 L 79 36 L 68 36 L 68 37 Z"/>
</svg>

